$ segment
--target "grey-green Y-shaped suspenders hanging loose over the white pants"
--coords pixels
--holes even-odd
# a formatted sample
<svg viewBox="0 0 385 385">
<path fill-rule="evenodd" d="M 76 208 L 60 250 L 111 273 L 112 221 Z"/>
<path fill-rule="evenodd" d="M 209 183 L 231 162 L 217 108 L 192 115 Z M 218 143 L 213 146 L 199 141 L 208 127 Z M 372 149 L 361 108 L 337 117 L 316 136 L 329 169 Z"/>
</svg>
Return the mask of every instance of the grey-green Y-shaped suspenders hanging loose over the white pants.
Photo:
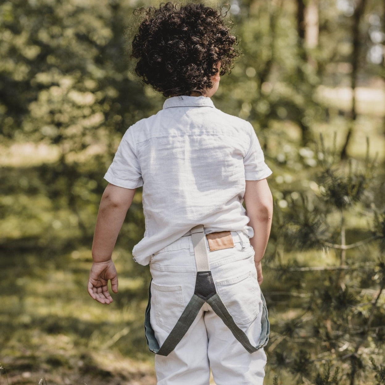
<svg viewBox="0 0 385 385">
<path fill-rule="evenodd" d="M 211 275 L 206 241 L 203 230 L 203 225 L 195 226 L 191 229 L 192 244 L 194 246 L 194 254 L 196 261 L 196 283 L 194 295 L 184 309 L 182 315 L 179 317 L 174 328 L 167 336 L 166 340 L 159 346 L 158 341 L 155 338 L 154 330 L 150 323 L 150 302 L 151 302 L 151 290 L 149 290 L 149 300 L 146 308 L 146 315 L 144 320 L 144 329 L 146 333 L 147 344 L 149 350 L 152 352 L 167 356 L 174 350 L 179 341 L 186 334 L 189 327 L 194 322 L 196 316 L 201 310 L 204 303 L 208 303 L 213 311 L 221 318 L 224 324 L 231 330 L 234 337 L 244 346 L 249 352 L 253 353 L 266 346 L 269 340 L 269 320 L 268 311 L 266 308 L 266 301 L 261 293 L 263 310 L 262 310 L 262 332 L 259 339 L 259 344 L 254 346 L 250 343 L 248 336 L 241 330 L 233 320 L 226 306 L 223 304 L 221 298 L 216 292 L 213 276 Z M 150 285 L 151 288 L 151 285 Z"/>
</svg>

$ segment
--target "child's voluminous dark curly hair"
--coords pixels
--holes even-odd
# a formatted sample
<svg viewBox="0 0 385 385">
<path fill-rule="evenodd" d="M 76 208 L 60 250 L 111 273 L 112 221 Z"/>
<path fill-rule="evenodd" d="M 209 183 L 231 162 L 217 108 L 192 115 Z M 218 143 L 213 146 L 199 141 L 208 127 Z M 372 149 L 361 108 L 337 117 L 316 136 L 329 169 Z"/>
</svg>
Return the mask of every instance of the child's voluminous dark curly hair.
<svg viewBox="0 0 385 385">
<path fill-rule="evenodd" d="M 211 77 L 231 72 L 239 56 L 237 38 L 221 12 L 203 4 L 162 3 L 139 8 L 144 13 L 132 41 L 135 72 L 166 97 L 203 94 L 213 86 Z"/>
</svg>

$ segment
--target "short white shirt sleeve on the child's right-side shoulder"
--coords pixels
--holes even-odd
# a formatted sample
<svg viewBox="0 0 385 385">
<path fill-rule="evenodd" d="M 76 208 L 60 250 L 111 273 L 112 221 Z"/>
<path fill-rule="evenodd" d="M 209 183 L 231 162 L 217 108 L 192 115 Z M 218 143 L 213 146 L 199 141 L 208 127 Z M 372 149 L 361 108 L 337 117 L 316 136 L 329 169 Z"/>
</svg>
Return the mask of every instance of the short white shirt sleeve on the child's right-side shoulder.
<svg viewBox="0 0 385 385">
<path fill-rule="evenodd" d="M 248 124 L 248 134 L 250 145 L 243 158 L 244 176 L 246 181 L 259 181 L 271 175 L 272 171 L 264 161 L 261 145 L 251 124 Z"/>
</svg>

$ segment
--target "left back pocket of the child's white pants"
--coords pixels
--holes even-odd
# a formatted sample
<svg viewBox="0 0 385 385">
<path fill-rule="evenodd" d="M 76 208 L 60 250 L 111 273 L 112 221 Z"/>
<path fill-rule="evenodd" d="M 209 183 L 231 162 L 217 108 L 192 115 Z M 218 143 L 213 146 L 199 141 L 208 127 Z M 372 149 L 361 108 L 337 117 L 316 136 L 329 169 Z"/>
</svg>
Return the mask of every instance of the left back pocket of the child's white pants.
<svg viewBox="0 0 385 385">
<path fill-rule="evenodd" d="M 151 298 L 153 299 L 156 324 L 170 332 L 179 320 L 185 308 L 181 285 L 159 285 L 151 282 Z"/>
</svg>

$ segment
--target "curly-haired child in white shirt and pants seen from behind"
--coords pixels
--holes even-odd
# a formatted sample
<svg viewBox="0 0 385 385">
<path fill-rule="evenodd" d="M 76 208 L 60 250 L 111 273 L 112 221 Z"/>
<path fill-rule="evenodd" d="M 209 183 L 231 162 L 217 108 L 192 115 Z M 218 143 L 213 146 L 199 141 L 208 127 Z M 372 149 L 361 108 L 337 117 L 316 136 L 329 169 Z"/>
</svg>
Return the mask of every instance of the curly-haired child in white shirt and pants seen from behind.
<svg viewBox="0 0 385 385">
<path fill-rule="evenodd" d="M 111 259 L 135 189 L 146 231 L 132 254 L 150 264 L 146 337 L 158 385 L 263 383 L 268 340 L 261 259 L 271 192 L 254 129 L 210 97 L 238 55 L 221 14 L 202 4 L 147 8 L 132 42 L 136 73 L 168 97 L 124 134 L 105 174 L 88 292 L 117 293 Z M 246 211 L 242 206 L 245 201 Z"/>
</svg>

